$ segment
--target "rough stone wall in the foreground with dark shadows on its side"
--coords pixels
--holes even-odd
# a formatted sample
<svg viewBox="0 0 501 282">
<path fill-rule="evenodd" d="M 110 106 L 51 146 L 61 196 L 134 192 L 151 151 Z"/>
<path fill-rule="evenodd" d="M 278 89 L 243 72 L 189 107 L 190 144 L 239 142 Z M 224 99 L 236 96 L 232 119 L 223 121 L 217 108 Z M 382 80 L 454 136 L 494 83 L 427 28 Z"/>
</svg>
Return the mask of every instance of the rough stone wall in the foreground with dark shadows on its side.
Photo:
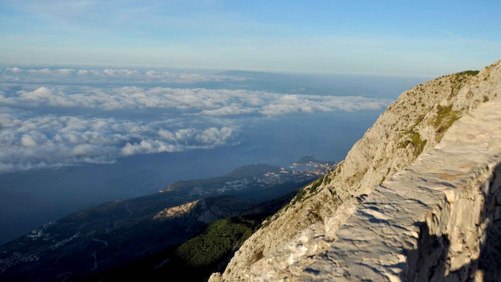
<svg viewBox="0 0 501 282">
<path fill-rule="evenodd" d="M 497 280 L 500 164 L 496 100 L 376 187 L 325 252 L 265 280 Z"/>
</svg>

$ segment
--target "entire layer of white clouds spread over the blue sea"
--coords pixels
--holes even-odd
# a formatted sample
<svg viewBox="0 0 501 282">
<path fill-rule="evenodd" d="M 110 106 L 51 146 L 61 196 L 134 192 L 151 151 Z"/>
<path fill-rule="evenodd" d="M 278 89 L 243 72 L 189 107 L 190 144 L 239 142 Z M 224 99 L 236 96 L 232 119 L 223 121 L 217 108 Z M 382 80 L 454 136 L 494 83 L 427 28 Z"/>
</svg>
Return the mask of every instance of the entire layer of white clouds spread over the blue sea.
<svg viewBox="0 0 501 282">
<path fill-rule="evenodd" d="M 76 85 L 78 76 L 115 81 L 106 86 Z M 240 141 L 238 133 L 245 130 L 244 121 L 249 119 L 273 122 L 274 117 L 288 114 L 381 110 L 390 102 L 365 97 L 148 87 L 148 76 L 156 77 L 157 82 L 176 77 L 184 83 L 233 79 L 130 70 L 3 69 L 0 172 L 113 163 L 134 154 L 228 146 Z M 128 78 L 140 81 L 141 87 L 117 83 Z"/>
</svg>

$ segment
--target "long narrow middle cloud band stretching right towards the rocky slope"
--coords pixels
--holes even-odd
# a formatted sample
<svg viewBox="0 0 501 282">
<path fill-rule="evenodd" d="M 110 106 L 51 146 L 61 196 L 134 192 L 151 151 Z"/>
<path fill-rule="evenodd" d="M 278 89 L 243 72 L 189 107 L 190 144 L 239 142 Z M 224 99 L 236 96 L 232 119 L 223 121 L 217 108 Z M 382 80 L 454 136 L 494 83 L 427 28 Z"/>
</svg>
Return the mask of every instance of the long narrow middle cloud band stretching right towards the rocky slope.
<svg viewBox="0 0 501 282">
<path fill-rule="evenodd" d="M 16 107 L 88 108 L 102 111 L 170 109 L 205 116 L 231 116 L 259 113 L 265 116 L 289 113 L 378 110 L 388 100 L 356 96 L 287 95 L 247 90 L 205 88 L 122 87 L 85 88 L 68 94 L 65 88 L 40 87 L 0 93 L 0 105 Z"/>
</svg>

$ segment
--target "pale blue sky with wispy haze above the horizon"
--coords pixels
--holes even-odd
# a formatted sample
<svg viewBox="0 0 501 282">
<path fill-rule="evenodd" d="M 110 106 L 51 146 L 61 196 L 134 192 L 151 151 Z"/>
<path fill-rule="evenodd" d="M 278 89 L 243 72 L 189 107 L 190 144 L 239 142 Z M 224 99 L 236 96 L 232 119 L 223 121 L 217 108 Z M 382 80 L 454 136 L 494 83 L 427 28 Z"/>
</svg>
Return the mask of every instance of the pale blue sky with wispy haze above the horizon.
<svg viewBox="0 0 501 282">
<path fill-rule="evenodd" d="M 0 63 L 439 76 L 501 59 L 497 1 L 0 1 Z"/>
</svg>

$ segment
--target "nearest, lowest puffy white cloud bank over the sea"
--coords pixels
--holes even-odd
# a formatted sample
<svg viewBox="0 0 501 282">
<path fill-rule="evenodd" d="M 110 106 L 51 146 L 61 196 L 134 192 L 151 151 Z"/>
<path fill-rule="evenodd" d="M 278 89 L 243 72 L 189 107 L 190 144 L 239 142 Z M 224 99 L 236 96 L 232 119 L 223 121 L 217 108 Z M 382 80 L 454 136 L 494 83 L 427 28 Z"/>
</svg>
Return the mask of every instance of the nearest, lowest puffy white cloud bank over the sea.
<svg viewBox="0 0 501 282">
<path fill-rule="evenodd" d="M 236 128 L 167 130 L 173 121 L 39 115 L 0 108 L 0 171 L 113 163 L 120 156 L 234 143 Z"/>
</svg>

